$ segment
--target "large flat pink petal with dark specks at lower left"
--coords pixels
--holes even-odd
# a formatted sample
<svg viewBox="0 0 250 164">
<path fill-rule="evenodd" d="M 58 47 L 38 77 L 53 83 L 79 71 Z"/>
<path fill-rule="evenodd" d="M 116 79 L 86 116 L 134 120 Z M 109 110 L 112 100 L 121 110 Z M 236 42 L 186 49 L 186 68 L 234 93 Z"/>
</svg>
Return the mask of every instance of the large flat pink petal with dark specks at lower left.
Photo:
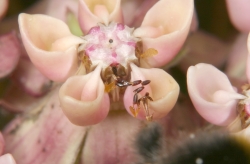
<svg viewBox="0 0 250 164">
<path fill-rule="evenodd" d="M 65 117 L 56 89 L 5 128 L 5 152 L 18 164 L 74 163 L 85 132 Z"/>
</svg>

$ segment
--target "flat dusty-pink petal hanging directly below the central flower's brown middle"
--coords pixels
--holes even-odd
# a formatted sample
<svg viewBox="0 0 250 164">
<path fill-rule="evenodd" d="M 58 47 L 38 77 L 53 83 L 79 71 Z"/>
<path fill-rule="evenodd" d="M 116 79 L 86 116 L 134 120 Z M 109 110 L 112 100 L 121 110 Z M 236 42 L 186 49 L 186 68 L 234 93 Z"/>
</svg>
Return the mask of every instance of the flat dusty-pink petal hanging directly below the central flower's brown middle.
<svg viewBox="0 0 250 164">
<path fill-rule="evenodd" d="M 124 111 L 111 111 L 91 127 L 81 156 L 82 164 L 126 164 L 135 161 L 134 136 L 141 122 Z"/>
</svg>

